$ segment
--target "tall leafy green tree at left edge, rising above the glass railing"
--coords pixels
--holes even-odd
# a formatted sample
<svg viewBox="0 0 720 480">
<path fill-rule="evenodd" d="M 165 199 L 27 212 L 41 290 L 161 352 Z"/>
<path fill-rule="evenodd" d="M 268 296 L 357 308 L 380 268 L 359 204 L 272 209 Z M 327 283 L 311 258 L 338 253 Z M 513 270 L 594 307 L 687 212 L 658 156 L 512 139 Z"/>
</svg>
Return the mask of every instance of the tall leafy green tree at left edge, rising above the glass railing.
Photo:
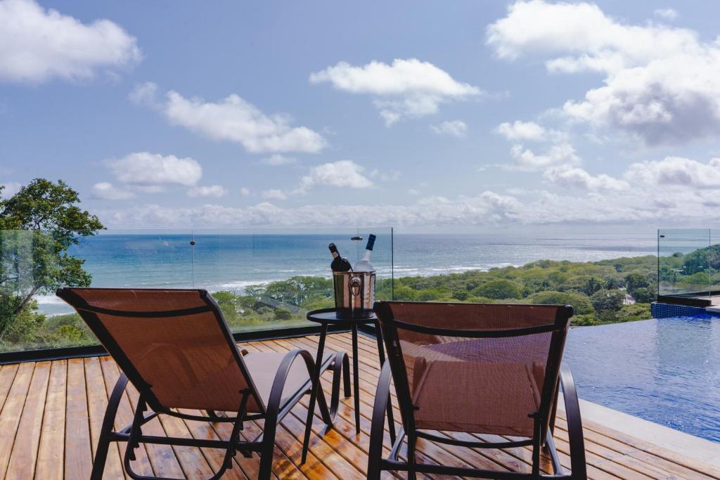
<svg viewBox="0 0 720 480">
<path fill-rule="evenodd" d="M 104 226 L 80 209 L 79 201 L 68 184 L 45 178 L 35 178 L 0 201 L 0 335 L 23 309 L 32 307 L 35 294 L 90 284 L 84 261 L 68 255 L 68 248 Z"/>
</svg>

